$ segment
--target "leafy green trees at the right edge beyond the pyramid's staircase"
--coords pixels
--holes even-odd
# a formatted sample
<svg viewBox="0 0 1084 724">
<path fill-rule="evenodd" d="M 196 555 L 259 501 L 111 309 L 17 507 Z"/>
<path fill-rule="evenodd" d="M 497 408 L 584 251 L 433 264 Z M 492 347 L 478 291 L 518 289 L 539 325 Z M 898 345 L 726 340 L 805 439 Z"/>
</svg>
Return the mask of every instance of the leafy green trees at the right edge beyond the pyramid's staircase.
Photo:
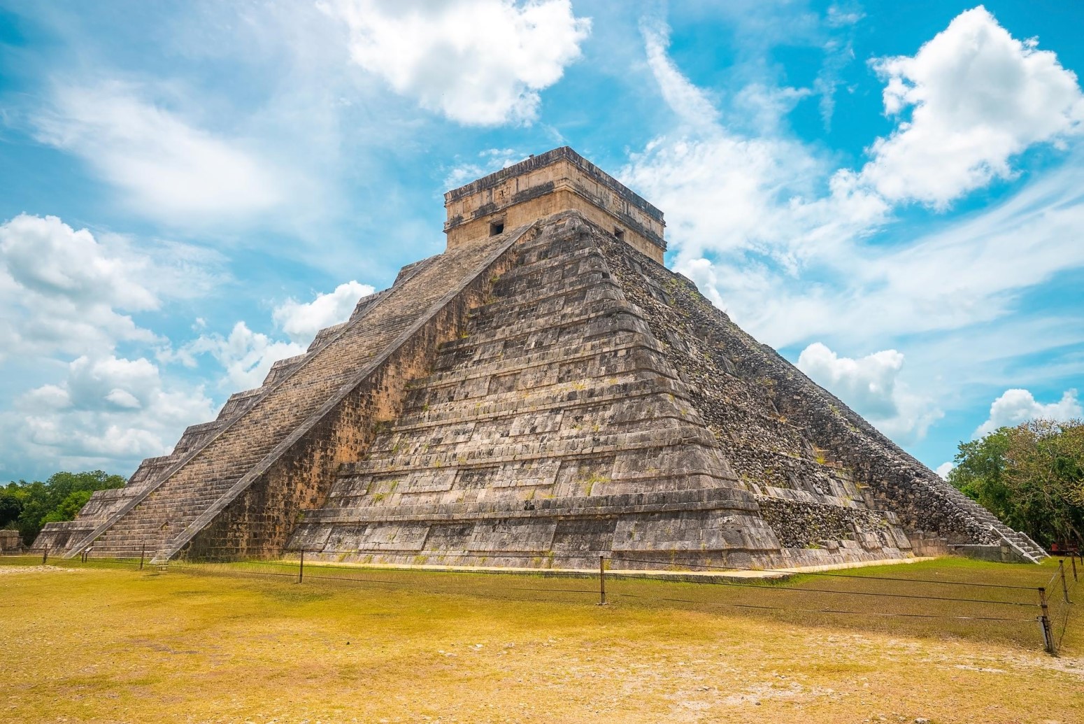
<svg viewBox="0 0 1084 724">
<path fill-rule="evenodd" d="M 962 442 L 955 463 L 949 482 L 1040 545 L 1084 539 L 1084 421 L 1002 427 Z"/>
</svg>

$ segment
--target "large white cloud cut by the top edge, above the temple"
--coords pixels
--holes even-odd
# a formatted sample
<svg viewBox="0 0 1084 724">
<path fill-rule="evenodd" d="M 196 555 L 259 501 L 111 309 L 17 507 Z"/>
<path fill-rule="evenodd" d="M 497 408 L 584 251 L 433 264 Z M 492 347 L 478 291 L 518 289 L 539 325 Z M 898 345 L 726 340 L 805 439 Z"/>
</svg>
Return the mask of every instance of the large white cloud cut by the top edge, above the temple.
<svg viewBox="0 0 1084 724">
<path fill-rule="evenodd" d="M 462 124 L 531 121 L 539 91 L 580 57 L 591 21 L 569 0 L 323 0 L 350 29 L 350 54 L 422 107 Z"/>
</svg>

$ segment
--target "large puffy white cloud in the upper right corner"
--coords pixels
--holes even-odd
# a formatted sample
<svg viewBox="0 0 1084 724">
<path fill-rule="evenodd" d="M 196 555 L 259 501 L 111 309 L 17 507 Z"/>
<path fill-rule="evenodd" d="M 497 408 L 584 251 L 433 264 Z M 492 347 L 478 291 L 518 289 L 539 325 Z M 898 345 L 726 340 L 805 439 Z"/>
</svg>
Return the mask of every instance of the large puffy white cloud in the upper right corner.
<svg viewBox="0 0 1084 724">
<path fill-rule="evenodd" d="M 885 111 L 911 109 L 870 148 L 864 182 L 892 202 L 945 207 L 1012 174 L 1028 146 L 1076 133 L 1084 96 L 1076 76 L 1035 40 L 1012 38 L 981 5 L 960 13 L 914 56 L 874 63 Z"/>
</svg>

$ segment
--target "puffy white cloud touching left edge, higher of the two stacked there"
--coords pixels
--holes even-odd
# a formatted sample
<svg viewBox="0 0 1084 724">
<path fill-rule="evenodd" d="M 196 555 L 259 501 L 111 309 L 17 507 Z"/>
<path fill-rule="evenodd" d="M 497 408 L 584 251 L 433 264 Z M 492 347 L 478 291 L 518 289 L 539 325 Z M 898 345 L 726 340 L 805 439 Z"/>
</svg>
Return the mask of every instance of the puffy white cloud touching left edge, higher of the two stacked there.
<svg viewBox="0 0 1084 724">
<path fill-rule="evenodd" d="M 95 238 L 56 217 L 20 215 L 0 224 L 0 360 L 153 341 L 126 312 L 201 294 L 216 264 L 217 257 L 194 247 L 152 243 L 136 250 L 120 236 Z"/>
</svg>

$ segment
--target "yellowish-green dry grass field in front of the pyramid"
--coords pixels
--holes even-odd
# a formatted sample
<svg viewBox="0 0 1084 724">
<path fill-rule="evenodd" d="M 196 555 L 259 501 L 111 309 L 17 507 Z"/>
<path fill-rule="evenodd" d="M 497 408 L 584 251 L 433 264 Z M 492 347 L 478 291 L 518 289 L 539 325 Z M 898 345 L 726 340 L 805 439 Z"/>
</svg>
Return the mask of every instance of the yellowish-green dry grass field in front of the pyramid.
<svg viewBox="0 0 1084 724">
<path fill-rule="evenodd" d="M 0 559 L 5 722 L 1084 722 L 1076 612 L 1055 658 L 1033 608 L 813 591 L 1029 602 L 877 578 L 1034 586 L 1053 561 L 949 558 L 756 587 L 610 579 L 605 607 L 568 592 L 590 579 L 332 581 L 307 567 L 297 584 L 241 567 L 34 563 Z M 1024 620 L 874 616 L 994 611 Z"/>
</svg>

